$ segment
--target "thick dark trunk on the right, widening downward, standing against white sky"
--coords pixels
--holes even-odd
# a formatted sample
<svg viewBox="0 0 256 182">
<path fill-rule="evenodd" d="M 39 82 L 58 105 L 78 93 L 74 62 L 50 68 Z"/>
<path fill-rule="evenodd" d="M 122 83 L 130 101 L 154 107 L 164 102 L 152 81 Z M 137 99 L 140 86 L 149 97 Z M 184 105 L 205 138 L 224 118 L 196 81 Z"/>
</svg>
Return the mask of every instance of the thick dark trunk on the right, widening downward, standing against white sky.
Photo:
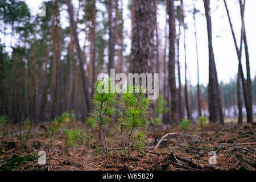
<svg viewBox="0 0 256 182">
<path fill-rule="evenodd" d="M 216 65 L 214 60 L 213 46 L 212 46 L 212 18 L 210 17 L 210 0 L 204 0 L 205 16 L 207 19 L 208 30 L 208 48 L 209 48 L 209 85 L 208 85 L 208 104 L 209 104 L 209 120 L 210 122 L 217 122 L 224 125 L 224 118 L 220 102 L 220 91 L 218 88 L 218 77 Z"/>
</svg>

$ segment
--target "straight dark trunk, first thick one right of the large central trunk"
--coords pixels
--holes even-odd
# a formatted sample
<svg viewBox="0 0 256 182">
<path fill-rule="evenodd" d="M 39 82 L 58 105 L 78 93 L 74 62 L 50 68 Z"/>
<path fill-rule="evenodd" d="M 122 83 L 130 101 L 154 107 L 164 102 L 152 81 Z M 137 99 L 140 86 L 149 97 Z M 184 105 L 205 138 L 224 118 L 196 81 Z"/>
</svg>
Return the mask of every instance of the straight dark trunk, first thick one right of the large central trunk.
<svg viewBox="0 0 256 182">
<path fill-rule="evenodd" d="M 174 0 L 167 0 L 167 9 L 169 15 L 169 86 L 171 93 L 171 121 L 177 123 L 179 119 L 177 89 L 176 89 L 176 76 L 175 76 L 175 9 Z"/>
</svg>

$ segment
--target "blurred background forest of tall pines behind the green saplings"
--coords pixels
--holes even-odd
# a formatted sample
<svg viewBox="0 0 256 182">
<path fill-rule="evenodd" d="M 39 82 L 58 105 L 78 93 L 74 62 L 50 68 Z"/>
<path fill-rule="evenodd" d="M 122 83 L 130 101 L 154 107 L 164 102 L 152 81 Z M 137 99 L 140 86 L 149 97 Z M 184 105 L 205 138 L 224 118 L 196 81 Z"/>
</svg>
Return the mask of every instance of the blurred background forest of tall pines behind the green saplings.
<svg viewBox="0 0 256 182">
<path fill-rule="evenodd" d="M 180 114 L 180 120 L 186 116 L 196 119 L 204 115 L 210 117 L 210 121 L 222 121 L 222 115 L 226 118 L 237 117 L 241 108 L 243 117 L 247 114 L 249 122 L 252 121 L 251 115 L 256 114 L 256 77 L 246 80 L 245 77 L 250 76 L 250 68 L 246 68 L 247 75 L 242 72 L 241 77 L 233 78 L 228 84 L 218 84 L 212 46 L 209 46 L 210 88 L 199 84 L 192 86 L 187 72 L 185 85 L 181 85 L 179 46 L 183 46 L 180 36 L 185 36 L 181 29 L 186 28 L 182 0 L 177 5 L 174 1 L 129 1 L 132 29 L 130 55 L 125 52 L 127 44 L 124 39 L 128 33 L 123 28 L 123 2 L 78 2 L 78 8 L 74 8 L 69 0 L 44 2 L 47 9 L 45 16 L 32 16 L 24 1 L 0 2 L 0 34 L 4 39 L 0 45 L 0 114 L 14 122 L 28 117 L 36 121 L 50 121 L 64 111 L 74 110 L 77 119 L 86 121 L 92 109 L 93 84 L 97 75 L 115 68 L 117 73 L 160 73 L 160 94 L 168 102 L 166 107 L 170 108 L 169 115 L 163 117 L 165 123 L 177 120 L 175 113 Z M 241 2 L 242 15 L 244 5 Z M 206 13 L 209 45 L 212 45 L 208 5 L 209 0 L 204 1 L 205 12 L 202 13 Z M 159 46 L 158 6 L 167 10 L 166 39 L 162 40 L 164 47 Z M 67 14 L 69 26 L 65 28 L 60 23 L 61 11 Z M 227 6 L 226 11 L 229 13 Z M 194 5 L 191 13 L 195 22 L 198 12 Z M 242 32 L 241 42 L 247 45 L 245 28 Z M 79 40 L 80 33 L 85 35 L 83 43 Z M 6 45 L 7 38 L 10 39 L 10 46 Z M 247 61 L 246 64 L 249 64 L 249 57 Z M 185 69 L 187 71 L 187 64 Z M 156 107 L 157 102 L 153 101 L 153 105 L 153 108 Z"/>
</svg>

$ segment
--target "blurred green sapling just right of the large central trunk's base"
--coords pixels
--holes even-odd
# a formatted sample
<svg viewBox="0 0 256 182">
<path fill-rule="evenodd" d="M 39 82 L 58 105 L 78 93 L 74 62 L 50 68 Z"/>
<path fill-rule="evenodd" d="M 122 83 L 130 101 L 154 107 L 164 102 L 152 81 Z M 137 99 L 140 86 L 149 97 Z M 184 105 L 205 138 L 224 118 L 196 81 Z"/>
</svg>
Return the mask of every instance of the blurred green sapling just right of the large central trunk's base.
<svg viewBox="0 0 256 182">
<path fill-rule="evenodd" d="M 160 118 L 160 115 L 166 114 L 169 111 L 168 107 L 165 107 L 167 105 L 167 101 L 164 101 L 163 95 L 159 95 L 158 100 L 156 101 L 156 118 L 153 118 L 151 120 L 152 124 L 154 126 L 158 126 L 161 124 L 162 119 Z"/>
</svg>

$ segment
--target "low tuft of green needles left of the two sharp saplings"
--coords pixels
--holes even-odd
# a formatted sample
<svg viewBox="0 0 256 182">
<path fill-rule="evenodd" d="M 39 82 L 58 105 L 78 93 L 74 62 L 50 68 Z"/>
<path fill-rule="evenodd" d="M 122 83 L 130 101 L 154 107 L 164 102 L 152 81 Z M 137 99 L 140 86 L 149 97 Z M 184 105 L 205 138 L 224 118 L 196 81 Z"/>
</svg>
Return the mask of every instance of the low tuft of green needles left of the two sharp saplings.
<svg viewBox="0 0 256 182">
<path fill-rule="evenodd" d="M 79 128 L 65 130 L 65 133 L 67 134 L 67 144 L 69 147 L 79 146 L 85 143 L 89 147 L 90 142 L 92 142 L 93 139 L 92 134 L 88 135 L 85 133 L 85 130 L 81 130 Z"/>
</svg>

